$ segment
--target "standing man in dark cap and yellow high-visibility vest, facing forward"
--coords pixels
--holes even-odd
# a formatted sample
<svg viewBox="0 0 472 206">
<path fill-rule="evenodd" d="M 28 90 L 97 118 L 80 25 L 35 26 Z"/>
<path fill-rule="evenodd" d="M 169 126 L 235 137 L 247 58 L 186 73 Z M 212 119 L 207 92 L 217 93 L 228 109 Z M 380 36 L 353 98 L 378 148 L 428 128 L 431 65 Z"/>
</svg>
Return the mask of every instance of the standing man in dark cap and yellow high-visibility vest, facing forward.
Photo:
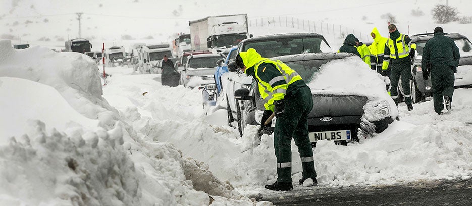
<svg viewBox="0 0 472 206">
<path fill-rule="evenodd" d="M 388 25 L 390 38 L 385 44 L 384 63 L 382 70 L 387 70 L 390 65 L 390 96 L 398 106 L 398 81 L 401 76 L 401 86 L 405 96 L 405 103 L 408 111 L 413 110 L 411 100 L 410 78 L 411 78 L 411 58 L 414 57 L 416 44 L 408 37 L 408 35 L 398 32 L 395 24 Z"/>
</svg>

